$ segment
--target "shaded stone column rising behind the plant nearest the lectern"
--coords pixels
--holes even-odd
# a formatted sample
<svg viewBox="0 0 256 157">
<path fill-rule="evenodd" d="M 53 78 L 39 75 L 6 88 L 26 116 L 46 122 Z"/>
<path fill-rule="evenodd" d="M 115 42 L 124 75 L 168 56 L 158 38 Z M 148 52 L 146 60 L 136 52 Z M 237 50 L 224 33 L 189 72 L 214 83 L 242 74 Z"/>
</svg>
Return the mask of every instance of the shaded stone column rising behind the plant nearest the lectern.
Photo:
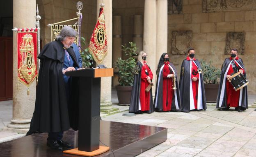
<svg viewBox="0 0 256 157">
<path fill-rule="evenodd" d="M 113 16 L 113 55 L 112 55 L 112 67 L 114 68 L 115 62 L 119 57 L 122 57 L 122 27 L 121 27 L 121 16 Z M 117 69 L 114 69 L 114 72 L 117 72 Z M 112 80 L 112 86 L 119 84 L 117 74 L 114 75 Z"/>
</svg>

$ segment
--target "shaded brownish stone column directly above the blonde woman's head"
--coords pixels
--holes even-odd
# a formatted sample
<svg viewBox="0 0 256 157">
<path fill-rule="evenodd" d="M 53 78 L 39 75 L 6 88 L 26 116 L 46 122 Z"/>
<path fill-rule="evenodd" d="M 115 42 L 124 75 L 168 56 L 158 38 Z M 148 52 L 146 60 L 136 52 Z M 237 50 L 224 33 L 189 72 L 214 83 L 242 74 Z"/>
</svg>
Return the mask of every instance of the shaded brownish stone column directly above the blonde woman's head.
<svg viewBox="0 0 256 157">
<path fill-rule="evenodd" d="M 138 48 L 138 52 L 142 51 L 142 15 L 134 15 L 133 18 L 133 42 Z"/>
</svg>

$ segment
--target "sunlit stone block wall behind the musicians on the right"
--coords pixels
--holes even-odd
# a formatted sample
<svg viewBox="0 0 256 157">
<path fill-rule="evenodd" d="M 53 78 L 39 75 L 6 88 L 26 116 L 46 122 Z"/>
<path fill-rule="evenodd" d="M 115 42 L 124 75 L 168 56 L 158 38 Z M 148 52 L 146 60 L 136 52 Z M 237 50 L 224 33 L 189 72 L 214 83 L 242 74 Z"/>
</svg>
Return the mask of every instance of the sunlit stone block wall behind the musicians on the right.
<svg viewBox="0 0 256 157">
<path fill-rule="evenodd" d="M 208 10 L 203 8 L 206 2 L 208 2 Z M 168 15 L 168 53 L 171 56 L 171 62 L 174 62 L 180 71 L 182 60 L 186 56 L 186 54 L 172 53 L 173 31 L 192 31 L 190 46 L 196 51 L 195 57 L 199 60 L 214 60 L 214 65 L 219 68 L 224 59 L 229 57 L 229 55 L 225 55 L 227 34 L 229 32 L 231 34 L 234 32 L 245 33 L 244 40 L 239 35 L 239 38 L 231 39 L 229 42 L 230 47 L 238 49 L 244 47 L 244 52 L 243 54 L 239 52 L 239 57 L 245 63 L 249 80 L 248 91 L 256 93 L 256 82 L 253 81 L 256 79 L 256 70 L 253 65 L 256 49 L 256 9 L 251 10 L 256 8 L 256 4 L 247 4 L 247 0 L 243 0 L 244 6 L 234 9 L 234 6 L 229 6 L 227 1 L 227 7 L 223 9 L 219 5 L 219 0 L 216 0 L 215 7 L 209 7 L 209 2 L 210 0 L 183 0 L 182 13 Z M 249 5 L 254 7 L 248 8 Z M 179 46 L 181 43 L 186 42 L 181 40 L 176 43 L 176 46 L 181 47 L 180 49 L 182 49 L 182 46 Z"/>
</svg>

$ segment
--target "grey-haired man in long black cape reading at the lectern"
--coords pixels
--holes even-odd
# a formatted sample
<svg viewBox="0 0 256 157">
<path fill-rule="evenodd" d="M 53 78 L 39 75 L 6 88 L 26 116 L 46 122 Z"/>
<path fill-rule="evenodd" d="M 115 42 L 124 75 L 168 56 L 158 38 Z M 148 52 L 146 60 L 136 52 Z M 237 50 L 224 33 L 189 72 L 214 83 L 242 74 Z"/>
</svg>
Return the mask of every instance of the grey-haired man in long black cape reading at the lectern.
<svg viewBox="0 0 256 157">
<path fill-rule="evenodd" d="M 36 102 L 30 130 L 32 133 L 48 133 L 47 146 L 63 150 L 71 145 L 62 140 L 63 131 L 70 126 L 69 108 L 75 108 L 67 97 L 70 91 L 66 90 L 64 74 L 79 68 L 79 63 L 71 45 L 77 32 L 69 26 L 63 27 L 56 41 L 46 44 L 38 58 L 40 59 L 39 80 L 37 85 Z M 65 62 L 72 66 L 64 68 Z M 76 111 L 73 109 L 73 111 Z M 74 115 L 74 114 L 72 114 Z M 75 128 L 78 129 L 78 128 Z"/>
</svg>

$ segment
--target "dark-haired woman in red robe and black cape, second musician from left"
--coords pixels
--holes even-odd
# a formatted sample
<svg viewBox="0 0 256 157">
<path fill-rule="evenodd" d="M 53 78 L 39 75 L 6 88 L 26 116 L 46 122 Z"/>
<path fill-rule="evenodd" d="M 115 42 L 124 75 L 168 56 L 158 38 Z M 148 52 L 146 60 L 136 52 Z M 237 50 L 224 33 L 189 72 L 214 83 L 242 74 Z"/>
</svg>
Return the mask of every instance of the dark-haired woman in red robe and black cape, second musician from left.
<svg viewBox="0 0 256 157">
<path fill-rule="evenodd" d="M 175 81 L 176 89 L 173 89 L 173 78 L 175 76 L 177 80 L 177 73 L 174 65 L 169 62 L 167 53 L 161 55 L 156 74 L 158 77 L 155 88 L 155 111 L 181 111 L 178 81 Z"/>
</svg>

